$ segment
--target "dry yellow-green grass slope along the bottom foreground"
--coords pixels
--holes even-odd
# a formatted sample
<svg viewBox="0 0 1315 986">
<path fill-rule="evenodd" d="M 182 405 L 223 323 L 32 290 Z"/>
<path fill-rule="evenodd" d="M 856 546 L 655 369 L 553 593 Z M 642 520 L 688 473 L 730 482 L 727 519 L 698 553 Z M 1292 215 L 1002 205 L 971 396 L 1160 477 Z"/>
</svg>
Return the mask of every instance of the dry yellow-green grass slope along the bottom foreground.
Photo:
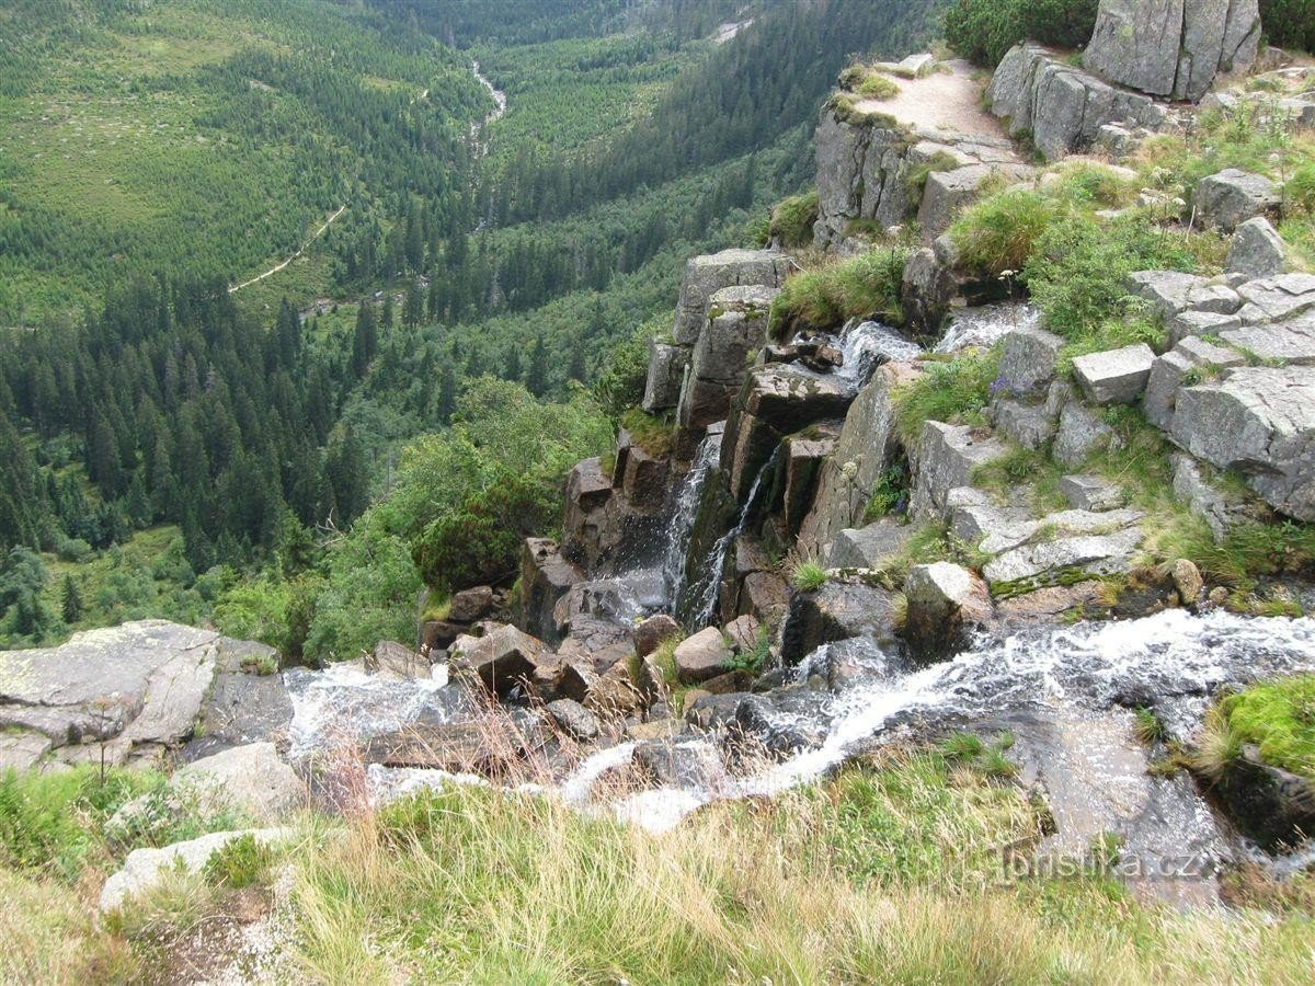
<svg viewBox="0 0 1315 986">
<path fill-rule="evenodd" d="M 1099 852 L 1082 876 L 1001 881 L 999 851 L 1038 824 L 1022 790 L 948 748 L 714 806 L 663 836 L 454 787 L 305 819 L 272 969 L 343 983 L 1308 981 L 1303 916 L 1140 904 Z M 206 957 L 192 929 L 235 910 L 212 872 L 95 928 L 97 882 L 7 861 L 0 887 L 25 906 L 0 916 L 0 972 L 185 968 Z"/>
</svg>

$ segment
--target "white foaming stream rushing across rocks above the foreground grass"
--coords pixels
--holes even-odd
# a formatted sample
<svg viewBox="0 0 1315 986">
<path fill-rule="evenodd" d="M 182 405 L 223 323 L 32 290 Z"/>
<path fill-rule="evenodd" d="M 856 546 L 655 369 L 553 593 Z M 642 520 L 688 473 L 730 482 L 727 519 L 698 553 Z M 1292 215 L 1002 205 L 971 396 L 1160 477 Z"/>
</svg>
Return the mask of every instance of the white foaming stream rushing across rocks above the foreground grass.
<svg viewBox="0 0 1315 986">
<path fill-rule="evenodd" d="M 813 780 L 848 757 L 859 741 L 914 718 L 934 723 L 1030 709 L 1091 711 L 1107 709 L 1120 695 L 1145 694 L 1170 726 L 1191 732 L 1220 685 L 1311 669 L 1315 619 L 1310 618 L 1166 610 L 1144 619 L 1020 634 L 952 661 L 871 678 L 821 702 L 815 716 L 825 738 L 781 764 L 725 777 L 715 790 L 644 791 L 614 805 L 614 811 L 660 831 L 700 805 L 772 795 Z M 581 787 L 588 785 L 580 778 L 593 770 L 586 760 L 563 790 L 584 801 Z"/>
</svg>

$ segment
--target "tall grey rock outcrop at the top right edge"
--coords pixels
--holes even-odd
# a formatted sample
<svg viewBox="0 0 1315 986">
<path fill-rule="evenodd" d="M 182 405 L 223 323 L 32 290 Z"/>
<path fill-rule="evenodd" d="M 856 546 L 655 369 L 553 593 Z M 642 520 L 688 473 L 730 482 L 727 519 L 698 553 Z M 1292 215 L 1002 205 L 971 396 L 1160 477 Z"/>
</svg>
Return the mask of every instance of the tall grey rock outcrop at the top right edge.
<svg viewBox="0 0 1315 986">
<path fill-rule="evenodd" d="M 1120 85 L 1199 100 L 1258 45 L 1257 0 L 1101 0 L 1082 60 Z"/>
</svg>

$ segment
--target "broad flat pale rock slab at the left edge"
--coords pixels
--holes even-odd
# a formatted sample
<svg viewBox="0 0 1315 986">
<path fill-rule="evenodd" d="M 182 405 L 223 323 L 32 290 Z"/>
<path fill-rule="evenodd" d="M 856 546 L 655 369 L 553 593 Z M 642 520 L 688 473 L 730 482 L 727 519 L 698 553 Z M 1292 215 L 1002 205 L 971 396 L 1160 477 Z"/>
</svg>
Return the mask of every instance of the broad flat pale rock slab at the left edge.
<svg viewBox="0 0 1315 986">
<path fill-rule="evenodd" d="M 59 647 L 0 653 L 0 726 L 41 734 L 58 756 L 122 763 L 193 732 L 229 643 L 160 619 L 75 634 Z"/>
</svg>

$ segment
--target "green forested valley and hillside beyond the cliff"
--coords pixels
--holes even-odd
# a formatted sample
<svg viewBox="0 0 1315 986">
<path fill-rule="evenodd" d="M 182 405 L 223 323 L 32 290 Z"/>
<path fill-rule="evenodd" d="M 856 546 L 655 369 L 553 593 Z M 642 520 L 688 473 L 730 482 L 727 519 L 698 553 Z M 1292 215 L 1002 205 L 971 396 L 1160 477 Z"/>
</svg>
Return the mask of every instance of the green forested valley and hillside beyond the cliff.
<svg viewBox="0 0 1315 986">
<path fill-rule="evenodd" d="M 835 71 L 938 7 L 0 7 L 0 642 L 350 656 L 506 576 L 497 518 L 554 525 L 684 259 L 765 235 Z M 518 430 L 563 443 L 501 465 Z"/>
</svg>

